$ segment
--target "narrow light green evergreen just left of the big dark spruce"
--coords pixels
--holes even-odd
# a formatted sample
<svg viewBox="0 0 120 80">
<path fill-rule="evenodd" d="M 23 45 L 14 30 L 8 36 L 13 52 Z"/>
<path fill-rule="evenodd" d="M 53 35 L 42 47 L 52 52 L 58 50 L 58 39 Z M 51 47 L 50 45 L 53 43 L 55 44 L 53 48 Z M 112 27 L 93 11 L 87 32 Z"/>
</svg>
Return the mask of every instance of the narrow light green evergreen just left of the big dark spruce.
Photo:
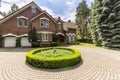
<svg viewBox="0 0 120 80">
<path fill-rule="evenodd" d="M 100 22 L 99 20 L 99 15 L 101 14 L 102 11 L 102 3 L 101 0 L 95 0 L 94 4 L 91 7 L 91 34 L 92 34 L 92 39 L 93 43 L 96 45 L 101 45 L 101 39 L 100 39 Z"/>
</svg>

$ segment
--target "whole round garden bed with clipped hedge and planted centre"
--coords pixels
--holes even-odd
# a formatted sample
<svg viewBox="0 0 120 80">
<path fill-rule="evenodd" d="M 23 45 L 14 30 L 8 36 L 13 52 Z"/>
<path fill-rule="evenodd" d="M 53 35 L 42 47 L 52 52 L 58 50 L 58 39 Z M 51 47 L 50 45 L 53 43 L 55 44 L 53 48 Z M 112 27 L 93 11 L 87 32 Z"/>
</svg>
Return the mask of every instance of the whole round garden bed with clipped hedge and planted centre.
<svg viewBox="0 0 120 80">
<path fill-rule="evenodd" d="M 71 48 L 39 48 L 26 54 L 26 62 L 39 68 L 64 68 L 78 64 L 79 50 Z"/>
</svg>

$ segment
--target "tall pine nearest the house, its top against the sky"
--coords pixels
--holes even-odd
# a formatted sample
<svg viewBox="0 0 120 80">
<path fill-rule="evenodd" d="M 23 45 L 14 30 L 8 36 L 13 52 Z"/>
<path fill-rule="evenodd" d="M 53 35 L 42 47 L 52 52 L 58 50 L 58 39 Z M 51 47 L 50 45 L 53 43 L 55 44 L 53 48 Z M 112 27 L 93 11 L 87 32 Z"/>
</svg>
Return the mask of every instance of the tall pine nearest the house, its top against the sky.
<svg viewBox="0 0 120 80">
<path fill-rule="evenodd" d="M 88 19 L 90 9 L 88 8 L 86 1 L 83 0 L 77 7 L 76 24 L 79 28 L 79 33 L 82 39 L 88 38 Z"/>
</svg>

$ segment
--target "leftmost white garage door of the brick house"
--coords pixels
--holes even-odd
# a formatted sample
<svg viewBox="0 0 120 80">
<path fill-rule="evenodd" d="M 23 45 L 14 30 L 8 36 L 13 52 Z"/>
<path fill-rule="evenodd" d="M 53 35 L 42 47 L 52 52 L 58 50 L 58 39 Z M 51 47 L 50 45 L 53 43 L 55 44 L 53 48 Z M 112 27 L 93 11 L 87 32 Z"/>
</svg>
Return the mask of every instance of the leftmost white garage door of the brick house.
<svg viewBox="0 0 120 80">
<path fill-rule="evenodd" d="M 16 37 L 5 37 L 4 47 L 15 47 L 16 46 Z"/>
</svg>

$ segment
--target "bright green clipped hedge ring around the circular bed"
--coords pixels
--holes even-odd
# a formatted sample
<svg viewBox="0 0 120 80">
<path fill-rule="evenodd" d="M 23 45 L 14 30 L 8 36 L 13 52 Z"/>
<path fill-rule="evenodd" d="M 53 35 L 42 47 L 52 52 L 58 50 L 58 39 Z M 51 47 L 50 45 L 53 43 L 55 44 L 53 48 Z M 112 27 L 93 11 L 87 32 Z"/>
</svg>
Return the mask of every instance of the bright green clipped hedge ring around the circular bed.
<svg viewBox="0 0 120 80">
<path fill-rule="evenodd" d="M 38 68 L 64 68 L 70 67 L 75 64 L 78 64 L 81 61 L 81 55 L 79 50 L 71 49 L 71 48 L 57 48 L 57 49 L 66 49 L 72 51 L 74 54 L 72 56 L 65 56 L 65 57 L 57 57 L 57 58 L 49 58 L 43 56 L 35 55 L 37 52 L 48 50 L 53 48 L 40 48 L 35 49 L 26 54 L 26 62 L 38 67 Z"/>
</svg>

